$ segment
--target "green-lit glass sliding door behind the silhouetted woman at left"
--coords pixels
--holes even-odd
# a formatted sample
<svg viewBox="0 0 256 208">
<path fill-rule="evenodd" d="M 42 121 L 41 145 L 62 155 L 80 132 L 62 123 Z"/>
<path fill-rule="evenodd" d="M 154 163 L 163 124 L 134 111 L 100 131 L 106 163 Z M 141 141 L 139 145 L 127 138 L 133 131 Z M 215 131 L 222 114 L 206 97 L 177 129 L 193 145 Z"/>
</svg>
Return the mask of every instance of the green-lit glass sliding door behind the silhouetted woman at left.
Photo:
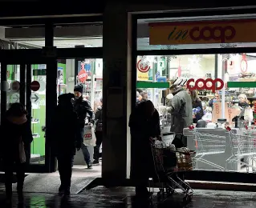
<svg viewBox="0 0 256 208">
<path fill-rule="evenodd" d="M 33 134 L 30 146 L 31 167 L 45 165 L 46 69 L 47 65 L 43 63 L 2 62 L 2 119 L 11 104 L 21 102 L 26 106 L 27 119 Z M 33 169 L 30 169 L 31 172 Z"/>
</svg>

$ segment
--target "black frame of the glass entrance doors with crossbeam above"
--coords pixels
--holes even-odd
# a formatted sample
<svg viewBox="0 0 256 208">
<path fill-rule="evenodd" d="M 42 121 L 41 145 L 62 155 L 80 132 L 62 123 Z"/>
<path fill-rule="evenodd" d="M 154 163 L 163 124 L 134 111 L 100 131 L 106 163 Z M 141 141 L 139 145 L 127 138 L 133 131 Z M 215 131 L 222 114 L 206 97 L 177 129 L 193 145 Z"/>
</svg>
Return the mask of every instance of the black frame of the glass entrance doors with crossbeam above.
<svg viewBox="0 0 256 208">
<path fill-rule="evenodd" d="M 46 84 L 46 126 L 50 122 L 51 114 L 57 105 L 57 60 L 58 59 L 76 59 L 76 58 L 103 58 L 102 47 L 98 48 L 62 48 L 56 49 L 55 56 L 47 57 L 43 49 L 25 49 L 25 50 L 0 50 L 1 63 L 1 83 L 6 79 L 7 65 L 21 65 L 29 66 L 32 64 L 46 64 L 47 65 L 47 84 Z M 54 70 L 55 69 L 55 70 Z M 31 79 L 31 74 L 22 72 L 21 77 Z M 29 78 L 28 78 L 29 79 Z M 27 79 L 27 81 L 28 81 Z M 22 80 L 20 80 L 22 82 Z M 29 86 L 27 86 L 29 87 Z M 30 91 L 30 90 L 28 90 Z M 20 97 L 21 98 L 21 97 Z M 30 102 L 30 94 L 26 94 L 26 98 L 21 98 Z M 28 103 L 26 102 L 26 103 Z M 1 94 L 1 112 L 6 109 L 6 92 Z M 2 111 L 4 110 L 4 111 Z M 1 169 L 1 167 L 0 167 Z M 51 173 L 56 170 L 55 156 L 51 154 L 51 148 L 48 145 L 46 137 L 45 146 L 45 164 L 30 164 L 26 172 L 29 173 Z"/>
</svg>

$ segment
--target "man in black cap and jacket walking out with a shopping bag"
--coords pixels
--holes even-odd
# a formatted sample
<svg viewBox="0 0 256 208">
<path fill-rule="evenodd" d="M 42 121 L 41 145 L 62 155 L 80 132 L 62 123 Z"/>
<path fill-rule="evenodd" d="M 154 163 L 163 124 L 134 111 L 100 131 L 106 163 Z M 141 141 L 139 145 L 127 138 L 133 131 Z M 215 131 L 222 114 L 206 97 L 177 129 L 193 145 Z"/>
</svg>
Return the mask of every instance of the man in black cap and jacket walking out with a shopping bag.
<svg viewBox="0 0 256 208">
<path fill-rule="evenodd" d="M 75 94 L 74 108 L 79 119 L 79 137 L 80 137 L 80 141 L 82 142 L 81 150 L 83 152 L 84 161 L 87 163 L 87 168 L 91 169 L 92 164 L 91 164 L 90 153 L 87 149 L 87 146 L 83 144 L 83 135 L 84 135 L 85 119 L 87 117 L 87 114 L 90 116 L 89 125 L 94 124 L 95 114 L 94 114 L 94 111 L 91 109 L 91 106 L 89 105 L 89 103 L 83 100 L 82 85 L 75 86 L 74 94 Z"/>
</svg>

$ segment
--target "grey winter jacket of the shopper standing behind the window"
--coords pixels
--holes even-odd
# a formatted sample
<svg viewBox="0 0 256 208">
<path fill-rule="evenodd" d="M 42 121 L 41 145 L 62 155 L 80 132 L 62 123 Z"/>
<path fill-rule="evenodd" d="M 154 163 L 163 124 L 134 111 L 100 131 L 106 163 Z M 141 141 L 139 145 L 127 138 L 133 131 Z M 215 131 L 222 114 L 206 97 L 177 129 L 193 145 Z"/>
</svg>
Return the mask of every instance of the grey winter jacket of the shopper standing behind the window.
<svg viewBox="0 0 256 208">
<path fill-rule="evenodd" d="M 173 93 L 169 102 L 171 118 L 171 132 L 182 134 L 183 129 L 193 124 L 193 108 L 190 95 L 184 89 L 178 89 Z"/>
</svg>

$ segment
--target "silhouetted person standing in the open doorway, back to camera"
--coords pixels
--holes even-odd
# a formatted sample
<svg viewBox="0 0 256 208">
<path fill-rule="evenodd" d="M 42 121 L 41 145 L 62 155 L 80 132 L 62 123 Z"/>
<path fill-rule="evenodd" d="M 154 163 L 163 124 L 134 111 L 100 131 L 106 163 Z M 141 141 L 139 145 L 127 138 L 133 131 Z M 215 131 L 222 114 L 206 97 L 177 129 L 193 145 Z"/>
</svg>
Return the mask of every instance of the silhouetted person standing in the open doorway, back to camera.
<svg viewBox="0 0 256 208">
<path fill-rule="evenodd" d="M 68 196 L 71 188 L 72 161 L 75 148 L 81 147 L 78 134 L 78 118 L 75 114 L 71 99 L 74 94 L 59 95 L 59 103 L 55 114 L 51 117 L 51 125 L 47 128 L 48 141 L 51 144 L 53 154 L 58 160 L 59 194 Z"/>
</svg>

